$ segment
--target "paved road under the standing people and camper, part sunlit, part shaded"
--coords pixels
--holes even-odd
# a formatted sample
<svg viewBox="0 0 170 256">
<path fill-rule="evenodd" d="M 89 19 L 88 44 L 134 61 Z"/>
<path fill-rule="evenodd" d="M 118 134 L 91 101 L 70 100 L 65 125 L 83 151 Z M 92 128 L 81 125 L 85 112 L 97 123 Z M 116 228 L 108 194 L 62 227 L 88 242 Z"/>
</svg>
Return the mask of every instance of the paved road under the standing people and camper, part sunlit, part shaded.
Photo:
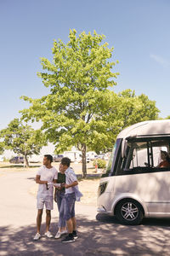
<svg viewBox="0 0 170 256">
<path fill-rule="evenodd" d="M 33 241 L 36 198 L 29 193 L 35 171 L 0 171 L 0 255 L 170 255 L 170 219 L 148 218 L 139 226 L 118 224 L 116 218 L 97 215 L 96 207 L 77 203 L 78 239 Z M 90 189 L 90 188 L 89 188 Z M 58 212 L 52 211 L 51 231 L 57 231 Z M 44 232 L 45 215 L 42 218 Z"/>
</svg>

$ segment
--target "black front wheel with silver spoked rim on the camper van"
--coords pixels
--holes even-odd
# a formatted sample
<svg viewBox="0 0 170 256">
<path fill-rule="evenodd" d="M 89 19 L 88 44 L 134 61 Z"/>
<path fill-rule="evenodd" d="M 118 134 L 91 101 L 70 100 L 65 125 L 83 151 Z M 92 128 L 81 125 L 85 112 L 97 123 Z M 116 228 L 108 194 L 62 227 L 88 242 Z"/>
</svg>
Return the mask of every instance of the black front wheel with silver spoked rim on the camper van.
<svg viewBox="0 0 170 256">
<path fill-rule="evenodd" d="M 143 219 L 142 207 L 138 201 L 124 199 L 116 206 L 116 218 L 127 225 L 138 225 Z"/>
</svg>

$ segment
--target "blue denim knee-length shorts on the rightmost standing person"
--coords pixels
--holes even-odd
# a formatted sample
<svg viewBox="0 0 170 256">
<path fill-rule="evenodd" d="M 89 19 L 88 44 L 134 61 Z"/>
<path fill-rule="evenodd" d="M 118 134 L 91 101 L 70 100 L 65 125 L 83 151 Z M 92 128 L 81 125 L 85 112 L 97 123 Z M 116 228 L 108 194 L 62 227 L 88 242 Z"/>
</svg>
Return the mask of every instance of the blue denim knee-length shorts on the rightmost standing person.
<svg viewBox="0 0 170 256">
<path fill-rule="evenodd" d="M 75 217 L 75 193 L 65 194 L 65 220 Z"/>
</svg>

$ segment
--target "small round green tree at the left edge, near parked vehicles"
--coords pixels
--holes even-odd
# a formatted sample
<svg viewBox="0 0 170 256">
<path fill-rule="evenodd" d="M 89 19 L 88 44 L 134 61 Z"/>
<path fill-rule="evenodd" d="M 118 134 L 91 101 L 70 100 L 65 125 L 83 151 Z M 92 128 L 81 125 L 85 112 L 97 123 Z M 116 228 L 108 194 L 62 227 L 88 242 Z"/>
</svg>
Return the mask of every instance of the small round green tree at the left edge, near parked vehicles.
<svg viewBox="0 0 170 256">
<path fill-rule="evenodd" d="M 24 125 L 20 119 L 12 120 L 7 128 L 0 131 L 0 137 L 3 139 L 4 148 L 25 157 L 26 166 L 29 166 L 27 156 L 39 154 L 46 142 L 42 131 L 34 130 L 30 125 Z"/>
</svg>

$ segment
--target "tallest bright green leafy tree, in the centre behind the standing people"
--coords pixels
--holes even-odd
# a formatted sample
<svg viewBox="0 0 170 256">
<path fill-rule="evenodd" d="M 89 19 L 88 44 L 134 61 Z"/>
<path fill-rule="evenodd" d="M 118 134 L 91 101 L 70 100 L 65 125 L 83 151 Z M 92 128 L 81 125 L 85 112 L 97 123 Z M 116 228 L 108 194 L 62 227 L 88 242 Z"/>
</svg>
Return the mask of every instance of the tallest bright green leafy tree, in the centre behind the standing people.
<svg viewBox="0 0 170 256">
<path fill-rule="evenodd" d="M 23 111 L 25 119 L 42 121 L 48 140 L 57 143 L 58 152 L 71 145 L 82 151 L 82 172 L 86 176 L 86 148 L 94 136 L 95 117 L 99 113 L 97 102 L 105 104 L 107 89 L 115 85 L 117 73 L 111 69 L 113 48 L 104 42 L 105 36 L 96 32 L 82 32 L 77 37 L 70 31 L 69 42 L 54 41 L 53 61 L 42 58 L 45 73 L 38 73 L 50 94 L 41 99 L 24 97 L 32 106 Z M 102 120 L 101 120 L 102 122 Z M 93 123 L 93 124 L 92 124 Z M 103 135 L 105 137 L 105 135 Z"/>
</svg>

